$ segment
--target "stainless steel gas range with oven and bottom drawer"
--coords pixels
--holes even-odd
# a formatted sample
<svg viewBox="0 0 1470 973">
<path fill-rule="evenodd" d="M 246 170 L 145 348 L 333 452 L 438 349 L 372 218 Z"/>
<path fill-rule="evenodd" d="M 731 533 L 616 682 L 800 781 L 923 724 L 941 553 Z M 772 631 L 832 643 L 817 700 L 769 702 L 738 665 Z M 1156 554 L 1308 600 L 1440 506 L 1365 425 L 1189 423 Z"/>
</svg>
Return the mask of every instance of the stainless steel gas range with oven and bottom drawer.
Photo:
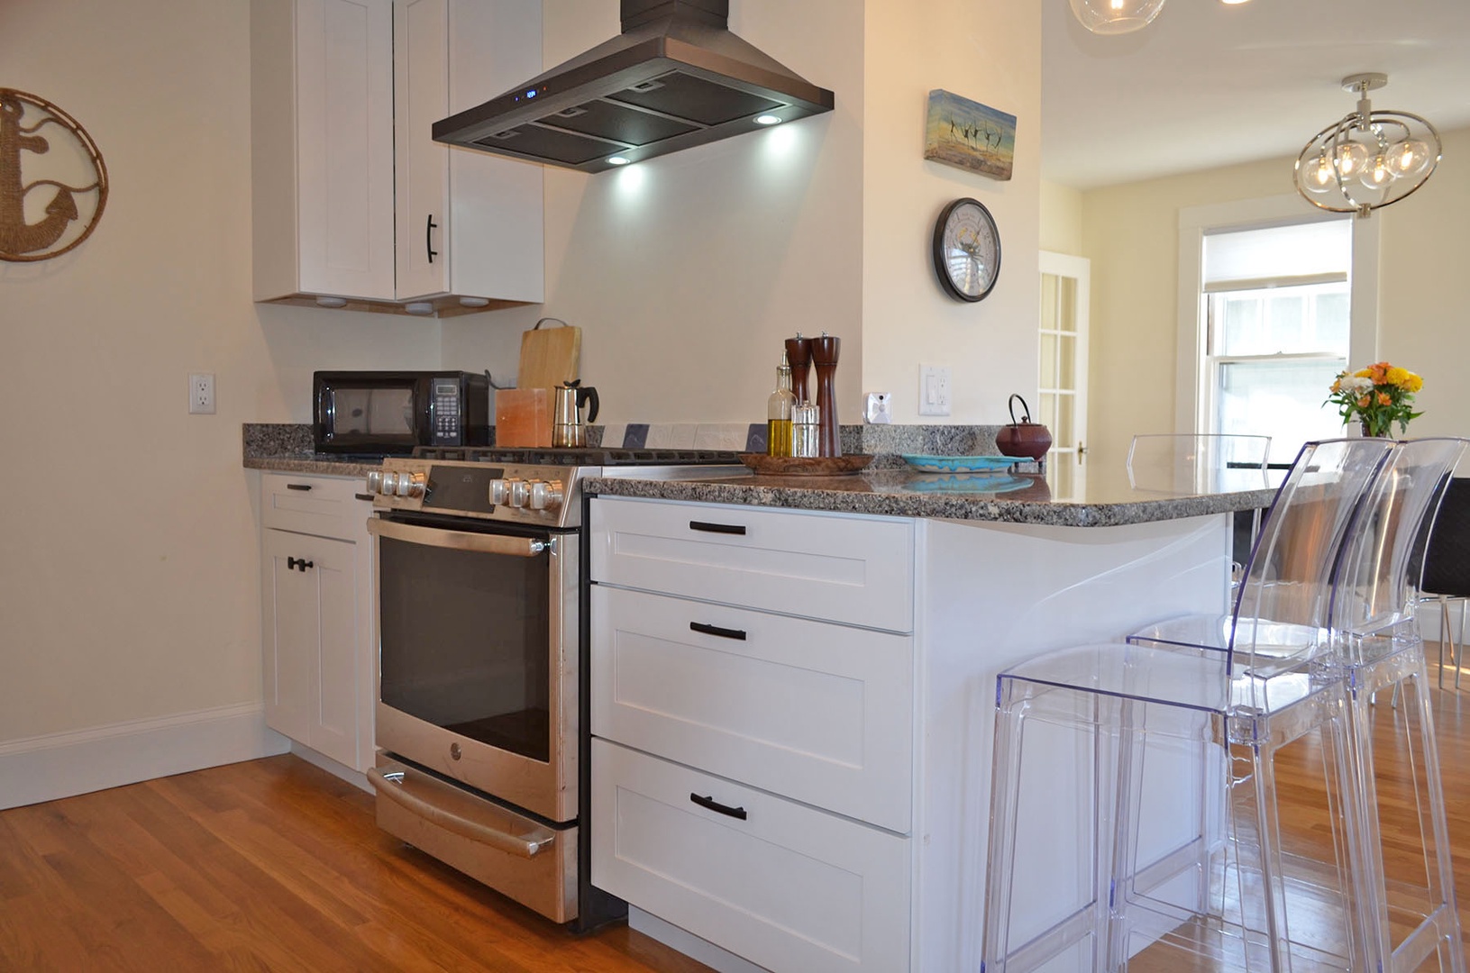
<svg viewBox="0 0 1470 973">
<path fill-rule="evenodd" d="M 456 447 L 369 475 L 382 829 L 556 922 L 591 911 L 582 479 L 723 472 L 735 453 Z"/>
</svg>

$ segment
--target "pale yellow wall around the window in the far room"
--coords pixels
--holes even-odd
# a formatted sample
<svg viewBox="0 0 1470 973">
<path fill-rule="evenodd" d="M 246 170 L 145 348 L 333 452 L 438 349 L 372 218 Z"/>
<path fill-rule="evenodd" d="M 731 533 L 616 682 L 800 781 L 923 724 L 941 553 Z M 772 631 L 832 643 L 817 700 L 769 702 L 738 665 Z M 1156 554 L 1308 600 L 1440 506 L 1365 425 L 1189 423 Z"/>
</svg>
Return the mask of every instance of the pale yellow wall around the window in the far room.
<svg viewBox="0 0 1470 973">
<path fill-rule="evenodd" d="M 1291 166 L 1274 159 L 1082 195 L 1082 256 L 1092 260 L 1094 467 L 1120 466 L 1135 432 L 1173 426 L 1179 212 L 1291 193 Z M 1424 416 L 1410 432 L 1467 435 L 1470 401 L 1458 394 L 1458 369 L 1470 335 L 1452 282 L 1463 276 L 1460 254 L 1470 251 L 1470 131 L 1446 134 L 1433 178 L 1372 219 L 1382 220 L 1377 357 L 1424 376 Z"/>
</svg>

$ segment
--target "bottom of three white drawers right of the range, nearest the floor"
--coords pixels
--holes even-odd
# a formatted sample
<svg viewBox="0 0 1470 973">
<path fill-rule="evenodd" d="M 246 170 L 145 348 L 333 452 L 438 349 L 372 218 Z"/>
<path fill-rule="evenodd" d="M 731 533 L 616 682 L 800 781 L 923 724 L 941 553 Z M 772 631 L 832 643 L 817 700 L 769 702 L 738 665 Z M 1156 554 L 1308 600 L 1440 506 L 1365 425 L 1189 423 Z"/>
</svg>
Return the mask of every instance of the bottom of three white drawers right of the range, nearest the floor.
<svg viewBox="0 0 1470 973">
<path fill-rule="evenodd" d="M 907 838 L 592 739 L 592 885 L 775 973 L 907 970 L 908 857 Z"/>
</svg>

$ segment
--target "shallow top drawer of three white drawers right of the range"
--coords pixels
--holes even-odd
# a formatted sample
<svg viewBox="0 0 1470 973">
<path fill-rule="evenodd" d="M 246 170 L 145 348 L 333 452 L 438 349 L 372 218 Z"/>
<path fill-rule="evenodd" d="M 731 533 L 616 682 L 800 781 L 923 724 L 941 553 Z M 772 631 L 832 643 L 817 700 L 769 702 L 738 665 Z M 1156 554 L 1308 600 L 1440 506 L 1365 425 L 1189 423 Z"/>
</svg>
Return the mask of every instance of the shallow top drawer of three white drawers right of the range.
<svg viewBox="0 0 1470 973">
<path fill-rule="evenodd" d="M 592 579 L 913 631 L 913 522 L 600 497 Z"/>
</svg>

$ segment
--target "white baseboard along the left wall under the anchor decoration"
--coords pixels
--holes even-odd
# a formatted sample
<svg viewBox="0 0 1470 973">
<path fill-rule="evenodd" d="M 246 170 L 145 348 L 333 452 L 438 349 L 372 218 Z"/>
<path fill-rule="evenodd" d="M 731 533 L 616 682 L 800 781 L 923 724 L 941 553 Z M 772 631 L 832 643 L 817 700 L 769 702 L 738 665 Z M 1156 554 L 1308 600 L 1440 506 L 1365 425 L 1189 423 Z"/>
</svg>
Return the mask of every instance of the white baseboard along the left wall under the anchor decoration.
<svg viewBox="0 0 1470 973">
<path fill-rule="evenodd" d="M 291 741 L 259 703 L 0 744 L 0 810 L 272 757 Z"/>
</svg>

